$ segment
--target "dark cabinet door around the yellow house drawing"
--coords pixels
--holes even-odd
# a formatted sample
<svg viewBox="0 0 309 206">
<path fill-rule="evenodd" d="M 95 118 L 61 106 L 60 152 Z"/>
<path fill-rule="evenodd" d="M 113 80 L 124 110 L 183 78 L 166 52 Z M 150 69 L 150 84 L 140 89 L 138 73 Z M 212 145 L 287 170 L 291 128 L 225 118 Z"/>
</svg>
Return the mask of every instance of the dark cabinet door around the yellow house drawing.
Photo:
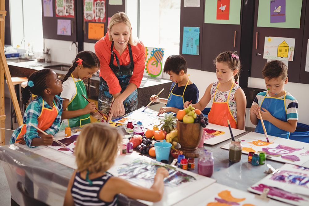
<svg viewBox="0 0 309 206">
<path fill-rule="evenodd" d="M 303 1 L 300 28 L 274 28 L 274 27 L 257 27 L 259 0 L 255 2 L 253 41 L 252 41 L 252 63 L 251 77 L 263 78 L 262 69 L 267 59 L 263 59 L 265 36 L 289 37 L 295 39 L 295 50 L 293 61 L 288 64 L 289 82 L 299 82 L 300 63 L 302 55 L 304 17 L 306 9 L 306 1 Z"/>
</svg>

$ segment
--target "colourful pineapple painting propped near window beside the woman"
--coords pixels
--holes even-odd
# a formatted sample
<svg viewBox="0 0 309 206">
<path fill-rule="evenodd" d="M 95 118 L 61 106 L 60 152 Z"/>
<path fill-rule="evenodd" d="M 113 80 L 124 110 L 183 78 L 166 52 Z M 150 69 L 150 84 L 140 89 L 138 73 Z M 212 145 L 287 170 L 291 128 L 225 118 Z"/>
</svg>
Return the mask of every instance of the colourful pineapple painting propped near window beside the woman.
<svg viewBox="0 0 309 206">
<path fill-rule="evenodd" d="M 144 76 L 162 77 L 162 60 L 164 48 L 145 47 L 145 70 Z"/>
</svg>

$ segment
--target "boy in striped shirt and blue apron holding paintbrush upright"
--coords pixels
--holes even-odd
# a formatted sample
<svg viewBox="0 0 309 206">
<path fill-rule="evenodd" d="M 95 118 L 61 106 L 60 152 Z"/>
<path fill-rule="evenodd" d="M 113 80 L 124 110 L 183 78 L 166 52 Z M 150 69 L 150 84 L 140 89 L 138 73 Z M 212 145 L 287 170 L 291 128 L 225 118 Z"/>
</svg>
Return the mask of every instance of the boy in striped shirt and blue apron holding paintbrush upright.
<svg viewBox="0 0 309 206">
<path fill-rule="evenodd" d="M 255 132 L 263 133 L 259 110 L 268 135 L 288 139 L 296 130 L 298 121 L 297 100 L 286 90 L 287 66 L 282 61 L 267 62 L 262 70 L 267 90 L 256 95 L 250 108 L 250 120 L 257 125 Z"/>
</svg>

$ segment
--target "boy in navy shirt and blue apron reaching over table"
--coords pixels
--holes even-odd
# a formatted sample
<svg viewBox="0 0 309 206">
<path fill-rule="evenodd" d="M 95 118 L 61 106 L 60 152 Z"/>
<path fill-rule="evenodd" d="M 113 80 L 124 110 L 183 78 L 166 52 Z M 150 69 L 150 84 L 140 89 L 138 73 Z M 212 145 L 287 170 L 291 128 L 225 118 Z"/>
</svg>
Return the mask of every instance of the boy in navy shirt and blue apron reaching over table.
<svg viewBox="0 0 309 206">
<path fill-rule="evenodd" d="M 197 86 L 190 81 L 187 70 L 187 62 L 184 57 L 180 55 L 167 57 L 163 72 L 169 74 L 173 82 L 168 98 L 159 98 L 156 95 L 150 97 L 150 101 L 166 104 L 166 107 L 160 108 L 159 115 L 164 112 L 178 112 L 184 108 L 186 101 L 192 100 L 192 104 L 197 103 L 199 91 Z"/>
</svg>

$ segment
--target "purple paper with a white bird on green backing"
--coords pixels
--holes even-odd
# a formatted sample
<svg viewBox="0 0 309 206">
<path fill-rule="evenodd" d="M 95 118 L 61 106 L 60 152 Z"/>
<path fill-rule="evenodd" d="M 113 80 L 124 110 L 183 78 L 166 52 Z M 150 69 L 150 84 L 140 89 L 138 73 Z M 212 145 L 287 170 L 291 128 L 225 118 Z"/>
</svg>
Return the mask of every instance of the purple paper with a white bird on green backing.
<svg viewBox="0 0 309 206">
<path fill-rule="evenodd" d="M 270 23 L 286 22 L 286 0 L 270 1 Z"/>
</svg>

